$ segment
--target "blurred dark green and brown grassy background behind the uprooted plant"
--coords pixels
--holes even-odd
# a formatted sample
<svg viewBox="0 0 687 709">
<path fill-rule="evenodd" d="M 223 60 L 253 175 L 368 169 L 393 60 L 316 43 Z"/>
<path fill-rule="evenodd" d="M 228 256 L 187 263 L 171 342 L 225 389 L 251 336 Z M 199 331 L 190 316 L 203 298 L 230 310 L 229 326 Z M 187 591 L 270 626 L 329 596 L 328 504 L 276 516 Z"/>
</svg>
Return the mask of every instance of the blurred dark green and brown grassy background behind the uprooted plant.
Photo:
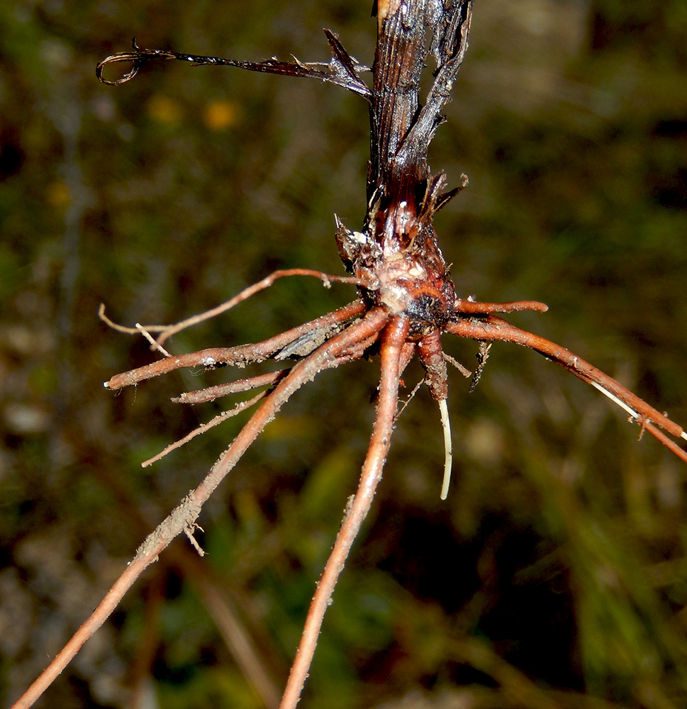
<svg viewBox="0 0 687 709">
<path fill-rule="evenodd" d="M 154 355 L 100 323 L 99 303 L 126 325 L 169 323 L 276 268 L 341 273 L 333 213 L 359 228 L 365 211 L 362 99 L 180 62 L 112 88 L 96 62 L 133 35 L 150 48 L 328 60 L 328 27 L 369 63 L 369 11 L 344 0 L 0 5 L 5 704 L 245 420 L 141 469 L 223 406 L 170 396 L 236 375 L 105 391 Z M 437 218 L 457 292 L 549 303 L 511 320 L 687 425 L 687 4 L 479 0 L 447 115 L 430 163 L 449 184 L 470 178 Z M 170 347 L 263 339 L 353 296 L 279 281 Z M 445 348 L 473 366 L 474 343 L 445 337 Z M 299 391 L 203 510 L 208 555 L 177 540 L 40 706 L 273 703 L 354 491 L 377 374 L 357 362 Z M 408 391 L 420 376 L 408 370 Z M 468 386 L 452 373 L 446 503 L 434 403 L 421 391 L 399 420 L 303 706 L 685 706 L 684 465 L 532 352 L 495 345 Z"/>
</svg>

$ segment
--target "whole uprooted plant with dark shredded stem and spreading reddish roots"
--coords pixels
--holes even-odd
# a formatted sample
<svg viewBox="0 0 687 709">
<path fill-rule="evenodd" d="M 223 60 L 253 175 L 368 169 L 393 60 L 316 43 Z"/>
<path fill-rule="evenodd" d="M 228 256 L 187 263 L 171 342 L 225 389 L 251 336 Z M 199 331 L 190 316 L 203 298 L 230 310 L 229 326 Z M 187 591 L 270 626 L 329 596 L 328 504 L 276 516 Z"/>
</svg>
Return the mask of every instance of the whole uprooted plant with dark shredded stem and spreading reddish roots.
<svg viewBox="0 0 687 709">
<path fill-rule="evenodd" d="M 242 410 L 257 406 L 206 478 L 147 537 L 98 608 L 14 707 L 28 707 L 40 697 L 82 644 L 104 623 L 143 570 L 157 559 L 157 554 L 175 536 L 186 533 L 192 540 L 196 520 L 214 489 L 240 461 L 281 406 L 323 369 L 337 367 L 367 354 L 380 354 L 379 398 L 359 486 L 346 508 L 340 532 L 308 610 L 305 630 L 291 667 L 281 709 L 294 709 L 300 699 L 325 610 L 381 480 L 393 425 L 398 418 L 401 375 L 415 354 L 426 372 L 423 381 L 440 408 L 446 446 L 441 496 L 447 496 L 452 446 L 446 404 L 445 362 L 447 359 L 452 362 L 452 359 L 442 352 L 442 335 L 449 333 L 480 343 L 474 384 L 482 374 L 491 342 L 512 342 L 540 352 L 587 384 L 600 389 L 630 413 L 642 431 L 648 430 L 676 456 L 687 461 L 687 453 L 659 430 L 662 428 L 675 437 L 687 439 L 686 432 L 680 426 L 573 352 L 543 337 L 519 330 L 494 315 L 521 310 L 544 312 L 547 310 L 544 303 L 479 303 L 455 295 L 447 264 L 437 242 L 432 217 L 467 185 L 467 177 L 461 177 L 458 187 L 444 191 L 447 182 L 445 174 L 439 172 L 432 175 L 427 159 L 432 138 L 444 121 L 442 108 L 451 99 L 453 84 L 467 50 L 472 4 L 472 0 L 378 0 L 375 6 L 377 43 L 372 89 L 360 78 L 360 74 L 369 72 L 369 68 L 351 57 L 337 36 L 329 30 L 325 30 L 332 53 L 328 63 L 303 63 L 298 60 L 281 62 L 274 58 L 265 62 L 240 62 L 169 50 L 141 49 L 134 40 L 132 51 L 107 57 L 96 68 L 98 78 L 111 85 L 129 81 L 141 67 L 157 59 L 181 60 L 194 65 L 225 65 L 253 72 L 319 79 L 342 86 L 364 98 L 369 104 L 371 123 L 367 216 L 362 231 L 352 231 L 335 218 L 339 253 L 352 276 L 329 276 L 310 269 L 277 271 L 223 305 L 181 320 L 176 325 L 122 328 L 111 323 L 101 307 L 99 314 L 103 320 L 126 333 L 142 332 L 151 340 L 152 336 L 148 333 L 160 333 L 156 340 L 152 340 L 152 349 L 166 354 L 162 350 L 162 342 L 174 333 L 227 311 L 271 286 L 281 277 L 317 277 L 325 286 L 330 286 L 334 281 L 353 284 L 358 288 L 359 297 L 347 306 L 263 342 L 189 354 L 169 354 L 169 357 L 146 367 L 117 374 L 106 382 L 106 388 L 120 389 L 181 367 L 245 367 L 246 364 L 270 358 L 276 362 L 295 360 L 293 366 L 284 367 L 279 372 L 182 393 L 175 398 L 180 403 L 192 404 L 239 391 L 268 388 L 250 401 L 217 417 L 228 418 L 238 413 L 239 408 Z M 436 67 L 432 86 L 422 105 L 420 76 L 428 61 L 435 62 Z M 118 62 L 129 62 L 130 70 L 120 79 L 105 79 L 104 69 Z M 197 433 L 207 430 L 215 422 L 213 420 L 169 445 L 155 459 L 174 450 Z M 247 681 L 251 681 L 248 674 Z"/>
</svg>

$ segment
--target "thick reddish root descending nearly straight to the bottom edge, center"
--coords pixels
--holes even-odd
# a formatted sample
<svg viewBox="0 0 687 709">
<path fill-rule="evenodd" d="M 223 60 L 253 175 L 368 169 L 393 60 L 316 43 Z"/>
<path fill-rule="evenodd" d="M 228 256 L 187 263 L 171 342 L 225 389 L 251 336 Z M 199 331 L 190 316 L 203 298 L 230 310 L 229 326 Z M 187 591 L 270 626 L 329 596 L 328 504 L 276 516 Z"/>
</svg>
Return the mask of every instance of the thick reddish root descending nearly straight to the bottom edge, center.
<svg viewBox="0 0 687 709">
<path fill-rule="evenodd" d="M 377 412 L 367 449 L 367 457 L 360 474 L 359 486 L 350 508 L 347 508 L 334 547 L 313 596 L 306 625 L 303 628 L 303 636 L 298 644 L 296 659 L 291 666 L 289 681 L 286 683 L 279 709 L 294 709 L 298 704 L 334 587 L 343 570 L 353 541 L 367 517 L 372 505 L 372 498 L 374 498 L 377 485 L 381 480 L 386 456 L 389 453 L 393 421 L 396 418 L 399 362 L 401 349 L 407 335 L 408 318 L 404 316 L 393 318 L 384 330 L 381 342 L 381 376 Z"/>
</svg>

